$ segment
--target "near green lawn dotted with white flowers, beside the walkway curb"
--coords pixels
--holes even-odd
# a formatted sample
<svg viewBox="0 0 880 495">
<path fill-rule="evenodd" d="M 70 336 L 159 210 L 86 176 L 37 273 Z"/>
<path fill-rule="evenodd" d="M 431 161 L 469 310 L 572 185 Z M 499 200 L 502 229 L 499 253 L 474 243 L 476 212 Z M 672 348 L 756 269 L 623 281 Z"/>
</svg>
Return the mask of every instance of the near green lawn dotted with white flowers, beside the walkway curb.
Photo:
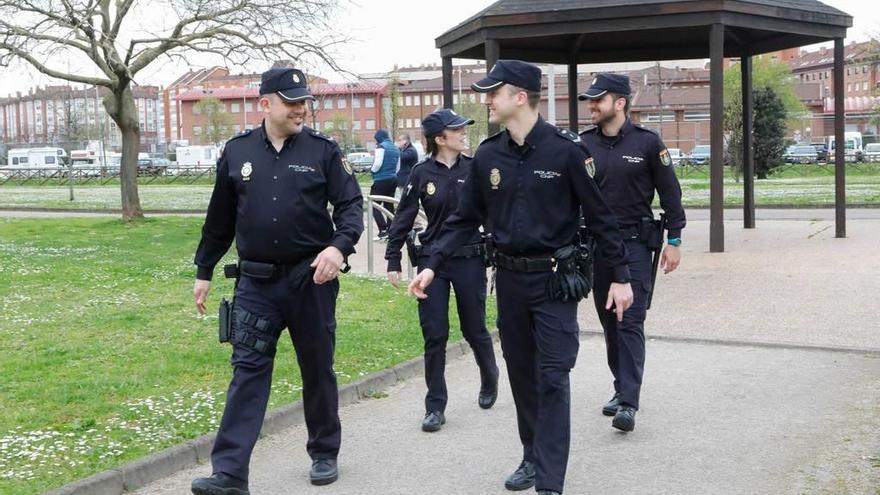
<svg viewBox="0 0 880 495">
<path fill-rule="evenodd" d="M 0 219 L 0 493 L 42 493 L 216 429 L 231 348 L 215 311 L 232 283 L 216 279 L 210 316 L 196 315 L 200 227 Z M 416 302 L 387 282 L 344 276 L 337 320 L 340 383 L 421 354 Z M 300 396 L 287 337 L 276 363 L 270 408 Z"/>
</svg>

